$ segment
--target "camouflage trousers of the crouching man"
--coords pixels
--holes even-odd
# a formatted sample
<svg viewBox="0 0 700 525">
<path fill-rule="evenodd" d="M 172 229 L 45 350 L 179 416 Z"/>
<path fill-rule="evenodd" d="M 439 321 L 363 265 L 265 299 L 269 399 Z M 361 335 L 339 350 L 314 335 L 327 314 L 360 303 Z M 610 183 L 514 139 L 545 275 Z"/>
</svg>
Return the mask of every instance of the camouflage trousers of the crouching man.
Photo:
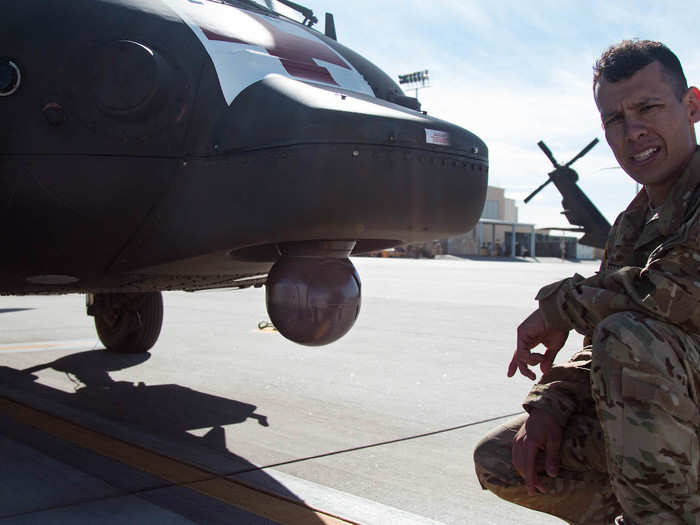
<svg viewBox="0 0 700 525">
<path fill-rule="evenodd" d="M 545 493 L 529 496 L 511 463 L 525 414 L 477 445 L 482 486 L 572 524 L 608 525 L 623 510 L 644 525 L 700 523 L 700 337 L 622 312 L 599 323 L 591 351 L 597 417 L 569 418 L 558 476 L 538 468 Z"/>
</svg>

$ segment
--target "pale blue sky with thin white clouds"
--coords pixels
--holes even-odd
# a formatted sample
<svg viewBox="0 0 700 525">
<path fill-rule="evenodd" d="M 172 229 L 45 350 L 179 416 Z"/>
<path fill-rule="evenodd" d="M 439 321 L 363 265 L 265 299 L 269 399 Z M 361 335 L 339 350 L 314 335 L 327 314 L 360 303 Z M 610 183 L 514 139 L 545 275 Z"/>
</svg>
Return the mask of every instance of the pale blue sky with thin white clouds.
<svg viewBox="0 0 700 525">
<path fill-rule="evenodd" d="M 538 227 L 566 224 L 553 185 L 522 202 L 552 169 L 539 140 L 561 163 L 601 140 L 573 167 L 611 222 L 634 196 L 635 183 L 609 169 L 617 162 L 592 97 L 592 65 L 605 48 L 623 38 L 661 40 L 688 82 L 700 84 L 698 2 L 297 1 L 313 9 L 321 31 L 324 13 L 333 13 L 338 40 L 395 79 L 429 69 L 423 109 L 486 141 L 490 184 L 517 199 L 521 222 Z"/>
</svg>

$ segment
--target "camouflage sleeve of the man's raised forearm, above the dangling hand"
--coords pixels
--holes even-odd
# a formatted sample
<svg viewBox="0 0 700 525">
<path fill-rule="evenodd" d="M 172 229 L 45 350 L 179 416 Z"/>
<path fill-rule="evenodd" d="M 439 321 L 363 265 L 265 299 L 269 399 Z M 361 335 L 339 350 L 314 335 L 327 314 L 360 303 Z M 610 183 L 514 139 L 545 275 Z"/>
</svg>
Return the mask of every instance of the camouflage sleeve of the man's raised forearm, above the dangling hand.
<svg viewBox="0 0 700 525">
<path fill-rule="evenodd" d="M 610 314 L 636 311 L 700 333 L 700 210 L 654 250 L 643 268 L 574 275 L 537 294 L 547 326 L 591 336 Z"/>
</svg>

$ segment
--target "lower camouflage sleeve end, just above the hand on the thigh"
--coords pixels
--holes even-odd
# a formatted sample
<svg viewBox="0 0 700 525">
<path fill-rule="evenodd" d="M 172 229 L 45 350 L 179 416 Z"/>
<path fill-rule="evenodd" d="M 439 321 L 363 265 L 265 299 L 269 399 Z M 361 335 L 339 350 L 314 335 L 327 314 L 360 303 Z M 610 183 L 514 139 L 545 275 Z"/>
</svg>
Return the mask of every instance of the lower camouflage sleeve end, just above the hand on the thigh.
<svg viewBox="0 0 700 525">
<path fill-rule="evenodd" d="M 534 409 L 544 410 L 562 427 L 572 413 L 594 410 L 590 371 L 591 351 L 581 350 L 568 362 L 554 366 L 544 374 L 525 398 L 523 408 L 528 413 Z"/>
</svg>

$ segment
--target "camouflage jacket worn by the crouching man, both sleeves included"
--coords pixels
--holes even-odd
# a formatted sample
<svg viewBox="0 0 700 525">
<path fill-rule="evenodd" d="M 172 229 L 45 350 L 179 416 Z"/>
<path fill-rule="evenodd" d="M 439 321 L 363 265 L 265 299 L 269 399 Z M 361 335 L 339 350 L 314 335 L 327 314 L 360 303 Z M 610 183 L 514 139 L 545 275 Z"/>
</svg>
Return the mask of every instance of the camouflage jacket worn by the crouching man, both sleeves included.
<svg viewBox="0 0 700 525">
<path fill-rule="evenodd" d="M 654 213 L 642 190 L 613 224 L 598 273 L 576 274 L 542 288 L 536 299 L 547 326 L 590 338 L 620 311 L 672 323 L 700 341 L 700 147 Z M 590 349 L 545 374 L 524 408 L 547 410 L 560 424 L 590 402 Z M 591 414 L 591 415 L 592 415 Z"/>
</svg>

